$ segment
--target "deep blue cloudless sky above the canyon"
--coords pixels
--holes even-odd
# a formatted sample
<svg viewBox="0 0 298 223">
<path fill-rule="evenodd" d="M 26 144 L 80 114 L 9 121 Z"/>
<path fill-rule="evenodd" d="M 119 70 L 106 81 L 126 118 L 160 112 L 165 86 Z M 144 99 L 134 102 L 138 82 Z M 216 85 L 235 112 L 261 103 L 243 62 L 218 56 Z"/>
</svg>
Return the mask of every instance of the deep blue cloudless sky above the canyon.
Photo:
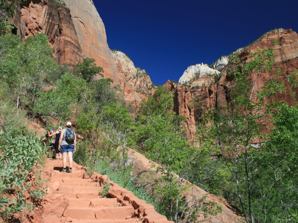
<svg viewBox="0 0 298 223">
<path fill-rule="evenodd" d="M 110 49 L 124 52 L 154 84 L 211 64 L 275 28 L 298 32 L 298 1 L 94 0 Z"/>
</svg>

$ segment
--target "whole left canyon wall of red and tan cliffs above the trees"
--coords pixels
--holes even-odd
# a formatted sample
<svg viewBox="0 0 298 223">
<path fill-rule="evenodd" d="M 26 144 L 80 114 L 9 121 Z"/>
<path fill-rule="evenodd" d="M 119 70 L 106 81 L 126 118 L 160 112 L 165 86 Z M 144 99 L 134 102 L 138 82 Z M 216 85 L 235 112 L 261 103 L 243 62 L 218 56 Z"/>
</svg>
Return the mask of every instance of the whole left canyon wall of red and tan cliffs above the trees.
<svg viewBox="0 0 298 223">
<path fill-rule="evenodd" d="M 66 7 L 55 5 L 53 0 L 24 1 L 12 19 L 16 24 L 13 33 L 20 34 L 22 40 L 36 33 L 46 34 L 57 61 L 70 67 L 81 63 L 83 58 L 94 58 L 96 65 L 103 67 L 104 78 L 111 78 L 114 85 L 119 85 L 129 103 L 139 105 L 150 93 L 150 77 L 137 76 L 140 72 L 136 70 L 128 75 L 126 65 L 120 65 L 122 55 L 109 49 L 105 26 L 91 0 L 63 2 Z"/>
</svg>

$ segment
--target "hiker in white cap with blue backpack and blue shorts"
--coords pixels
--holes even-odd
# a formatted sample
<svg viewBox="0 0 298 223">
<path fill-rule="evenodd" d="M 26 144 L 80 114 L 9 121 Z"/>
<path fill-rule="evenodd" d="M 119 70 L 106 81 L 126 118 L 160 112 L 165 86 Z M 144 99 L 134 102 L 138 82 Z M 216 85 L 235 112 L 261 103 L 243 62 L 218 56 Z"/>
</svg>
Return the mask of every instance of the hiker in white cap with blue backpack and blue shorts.
<svg viewBox="0 0 298 223">
<path fill-rule="evenodd" d="M 68 172 L 72 172 L 72 153 L 75 152 L 75 146 L 77 144 L 77 139 L 75 135 L 75 131 L 73 131 L 71 122 L 66 123 L 66 127 L 61 131 L 60 138 L 59 138 L 59 148 L 58 150 L 62 153 L 62 164 L 63 169 L 62 172 L 66 172 L 66 162 L 67 156 L 69 159 L 69 170 Z"/>
</svg>

